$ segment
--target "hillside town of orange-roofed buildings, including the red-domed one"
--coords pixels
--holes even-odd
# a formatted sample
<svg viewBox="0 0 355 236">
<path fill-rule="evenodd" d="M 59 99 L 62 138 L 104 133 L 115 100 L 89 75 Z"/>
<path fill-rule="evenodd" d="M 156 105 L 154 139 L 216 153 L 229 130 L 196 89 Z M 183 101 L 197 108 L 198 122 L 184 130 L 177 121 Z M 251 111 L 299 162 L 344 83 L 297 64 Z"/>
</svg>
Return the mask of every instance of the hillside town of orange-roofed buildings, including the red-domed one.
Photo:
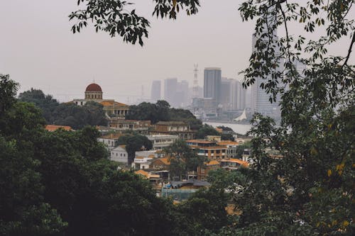
<svg viewBox="0 0 355 236">
<path fill-rule="evenodd" d="M 210 186 L 207 182 L 209 171 L 248 168 L 249 162 L 251 162 L 249 159 L 250 149 L 246 144 L 251 141 L 252 137 L 238 137 L 231 129 L 213 128 L 217 135 L 196 138 L 198 130 L 192 129 L 184 121 L 152 123 L 151 120 L 126 119 L 126 115 L 129 114 L 129 106 L 113 99 L 104 99 L 101 86 L 95 83 L 86 87 L 84 99 L 70 101 L 77 106 L 84 106 L 90 102 L 101 104 L 108 120 L 106 126 L 96 126 L 101 134 L 97 140 L 107 148 L 108 159 L 119 163 L 121 169 L 127 171 L 133 169 L 143 179 L 148 179 L 159 196 L 170 196 L 175 193 L 175 189 L 180 189 L 180 192 L 185 189 L 187 192 L 182 199 L 186 200 L 200 187 Z M 63 129 L 75 132 L 70 126 L 65 125 L 46 125 L 45 129 L 48 131 Z M 226 134 L 229 135 L 229 140 L 222 140 L 222 135 Z M 121 144 L 120 138 L 130 135 L 145 136 L 151 142 L 151 148 L 142 145 L 138 147 L 138 150 L 135 150 L 133 157 L 129 158 L 129 152 L 126 150 L 126 145 L 129 144 Z M 202 157 L 202 162 L 195 169 L 189 169 L 181 176 L 176 176 L 170 172 L 170 165 L 172 159 L 179 158 L 178 153 L 168 152 L 167 148 L 179 143 L 180 140 L 192 150 L 191 155 Z M 183 157 L 182 162 L 190 158 L 195 157 Z M 184 193 L 180 193 L 180 195 L 184 195 Z"/>
</svg>

